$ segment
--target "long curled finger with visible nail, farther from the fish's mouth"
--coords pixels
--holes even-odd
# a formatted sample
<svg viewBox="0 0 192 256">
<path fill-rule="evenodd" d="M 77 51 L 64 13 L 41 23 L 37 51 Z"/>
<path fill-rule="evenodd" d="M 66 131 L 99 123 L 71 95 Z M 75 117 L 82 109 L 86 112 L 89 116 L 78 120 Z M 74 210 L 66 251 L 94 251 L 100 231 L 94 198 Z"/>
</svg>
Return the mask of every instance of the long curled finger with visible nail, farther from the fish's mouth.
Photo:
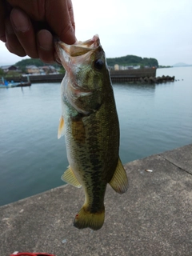
<svg viewBox="0 0 192 256">
<path fill-rule="evenodd" d="M 14 28 L 14 33 L 26 54 L 30 58 L 38 58 L 34 28 L 30 18 L 22 10 L 14 8 L 10 13 L 10 21 Z"/>
</svg>

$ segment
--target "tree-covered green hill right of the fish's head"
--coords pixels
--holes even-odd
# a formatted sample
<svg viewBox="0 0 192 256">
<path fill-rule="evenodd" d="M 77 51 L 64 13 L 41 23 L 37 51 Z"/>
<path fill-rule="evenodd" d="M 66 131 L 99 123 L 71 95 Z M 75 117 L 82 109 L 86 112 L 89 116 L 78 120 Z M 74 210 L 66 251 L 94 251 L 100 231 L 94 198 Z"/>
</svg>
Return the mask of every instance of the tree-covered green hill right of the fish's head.
<svg viewBox="0 0 192 256">
<path fill-rule="evenodd" d="M 156 58 L 142 58 L 135 55 L 126 55 L 118 58 L 106 58 L 109 66 L 118 64 L 120 66 L 157 66 L 158 60 Z"/>
</svg>

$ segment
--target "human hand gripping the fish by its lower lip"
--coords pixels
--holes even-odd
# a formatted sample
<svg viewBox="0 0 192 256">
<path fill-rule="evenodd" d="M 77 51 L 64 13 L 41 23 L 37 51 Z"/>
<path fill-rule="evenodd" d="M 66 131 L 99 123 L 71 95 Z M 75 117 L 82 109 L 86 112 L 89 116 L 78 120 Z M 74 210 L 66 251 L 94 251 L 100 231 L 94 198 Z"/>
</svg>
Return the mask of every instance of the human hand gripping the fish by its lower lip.
<svg viewBox="0 0 192 256">
<path fill-rule="evenodd" d="M 18 56 L 58 61 L 53 36 L 73 44 L 74 29 L 71 0 L 0 0 L 0 40 Z"/>
</svg>

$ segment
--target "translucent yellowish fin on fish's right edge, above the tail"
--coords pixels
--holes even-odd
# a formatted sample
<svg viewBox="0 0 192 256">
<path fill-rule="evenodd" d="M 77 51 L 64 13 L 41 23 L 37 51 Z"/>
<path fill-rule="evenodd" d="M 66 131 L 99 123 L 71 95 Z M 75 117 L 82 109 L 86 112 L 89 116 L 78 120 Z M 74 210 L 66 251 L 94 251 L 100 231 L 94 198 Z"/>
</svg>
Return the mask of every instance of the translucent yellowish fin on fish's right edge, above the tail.
<svg viewBox="0 0 192 256">
<path fill-rule="evenodd" d="M 126 176 L 126 170 L 122 166 L 122 162 L 120 158 L 118 158 L 118 166 L 114 171 L 114 176 L 110 180 L 110 186 L 114 189 L 114 191 L 119 194 L 123 194 L 126 192 L 128 188 L 128 178 Z"/>
</svg>

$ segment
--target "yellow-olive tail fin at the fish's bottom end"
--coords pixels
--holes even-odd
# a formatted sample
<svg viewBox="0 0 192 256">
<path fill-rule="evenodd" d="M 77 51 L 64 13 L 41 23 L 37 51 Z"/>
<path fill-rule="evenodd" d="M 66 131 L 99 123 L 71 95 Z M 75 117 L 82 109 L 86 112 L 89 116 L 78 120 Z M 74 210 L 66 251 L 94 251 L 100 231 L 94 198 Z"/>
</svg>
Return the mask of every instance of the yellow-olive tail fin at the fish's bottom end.
<svg viewBox="0 0 192 256">
<path fill-rule="evenodd" d="M 90 213 L 86 210 L 86 206 L 82 206 L 82 209 L 74 218 L 74 226 L 78 229 L 84 229 L 90 227 L 91 230 L 101 229 L 105 219 L 105 206 L 103 206 L 102 211 L 97 213 Z"/>
</svg>

